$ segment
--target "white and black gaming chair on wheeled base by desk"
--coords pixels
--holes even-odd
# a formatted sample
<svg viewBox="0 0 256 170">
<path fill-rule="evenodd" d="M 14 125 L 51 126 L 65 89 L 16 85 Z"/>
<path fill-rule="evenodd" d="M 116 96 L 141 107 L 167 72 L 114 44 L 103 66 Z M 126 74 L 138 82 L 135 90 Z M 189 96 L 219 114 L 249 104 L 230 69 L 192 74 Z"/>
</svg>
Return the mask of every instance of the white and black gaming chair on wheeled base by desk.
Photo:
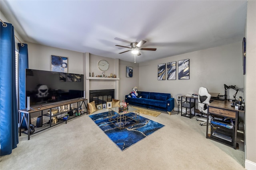
<svg viewBox="0 0 256 170">
<path fill-rule="evenodd" d="M 202 114 L 202 117 L 205 117 L 207 115 L 207 108 L 208 104 L 210 104 L 211 95 L 209 94 L 207 88 L 200 87 L 198 91 L 198 109 L 200 113 Z M 209 118 L 210 119 L 210 118 Z M 202 121 L 200 125 L 204 125 L 207 122 L 207 119 L 204 118 L 197 118 L 196 121 Z"/>
</svg>

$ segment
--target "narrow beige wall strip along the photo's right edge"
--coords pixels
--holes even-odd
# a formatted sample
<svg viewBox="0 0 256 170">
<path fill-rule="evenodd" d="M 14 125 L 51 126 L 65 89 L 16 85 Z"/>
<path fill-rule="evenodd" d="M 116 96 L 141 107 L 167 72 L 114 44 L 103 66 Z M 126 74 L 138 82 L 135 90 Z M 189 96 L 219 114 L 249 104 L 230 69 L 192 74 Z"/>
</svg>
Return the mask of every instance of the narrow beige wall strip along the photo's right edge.
<svg viewBox="0 0 256 170">
<path fill-rule="evenodd" d="M 256 1 L 249 0 L 246 22 L 246 155 L 245 168 L 256 169 Z"/>
</svg>

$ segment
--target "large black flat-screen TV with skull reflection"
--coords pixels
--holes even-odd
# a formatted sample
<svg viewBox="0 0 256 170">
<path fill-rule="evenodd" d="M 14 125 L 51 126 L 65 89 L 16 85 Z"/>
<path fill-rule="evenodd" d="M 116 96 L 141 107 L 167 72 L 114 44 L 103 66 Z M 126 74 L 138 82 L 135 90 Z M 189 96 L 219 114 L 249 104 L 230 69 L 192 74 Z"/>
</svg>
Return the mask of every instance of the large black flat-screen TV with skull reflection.
<svg viewBox="0 0 256 170">
<path fill-rule="evenodd" d="M 25 86 L 30 106 L 84 98 L 83 74 L 26 69 Z"/>
</svg>

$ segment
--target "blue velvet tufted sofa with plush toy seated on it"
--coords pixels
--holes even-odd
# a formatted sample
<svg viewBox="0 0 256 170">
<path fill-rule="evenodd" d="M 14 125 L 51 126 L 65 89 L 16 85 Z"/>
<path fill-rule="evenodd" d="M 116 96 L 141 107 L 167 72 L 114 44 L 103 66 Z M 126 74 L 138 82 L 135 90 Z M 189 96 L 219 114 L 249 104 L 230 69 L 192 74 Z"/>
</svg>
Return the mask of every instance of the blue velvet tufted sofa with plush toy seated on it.
<svg viewBox="0 0 256 170">
<path fill-rule="evenodd" d="M 129 95 L 126 95 L 126 103 L 150 109 L 167 111 L 168 113 L 174 109 L 174 98 L 171 98 L 171 94 L 155 92 L 137 93 L 138 96 L 142 96 L 142 98 L 129 98 Z"/>
</svg>

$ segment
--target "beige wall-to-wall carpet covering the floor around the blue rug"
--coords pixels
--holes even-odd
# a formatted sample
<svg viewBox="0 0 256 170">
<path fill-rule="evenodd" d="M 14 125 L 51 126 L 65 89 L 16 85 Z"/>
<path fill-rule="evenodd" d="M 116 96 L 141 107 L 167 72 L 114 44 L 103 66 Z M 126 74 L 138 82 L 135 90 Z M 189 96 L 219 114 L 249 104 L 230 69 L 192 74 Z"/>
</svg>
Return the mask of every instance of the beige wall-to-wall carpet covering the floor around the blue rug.
<svg viewBox="0 0 256 170">
<path fill-rule="evenodd" d="M 89 115 L 33 134 L 29 141 L 22 134 L 12 154 L 0 157 L 0 170 L 244 170 L 241 133 L 235 150 L 206 139 L 206 126 L 195 117 L 177 112 L 143 117 L 165 127 L 123 152 Z"/>
</svg>

